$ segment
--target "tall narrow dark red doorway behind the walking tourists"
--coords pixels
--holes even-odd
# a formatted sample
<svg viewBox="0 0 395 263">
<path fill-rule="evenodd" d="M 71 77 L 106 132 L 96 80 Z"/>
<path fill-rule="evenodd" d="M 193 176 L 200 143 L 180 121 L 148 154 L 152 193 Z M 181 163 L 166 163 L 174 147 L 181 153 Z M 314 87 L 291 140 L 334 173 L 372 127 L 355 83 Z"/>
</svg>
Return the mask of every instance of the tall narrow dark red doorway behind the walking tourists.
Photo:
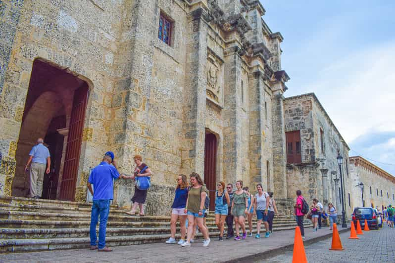
<svg viewBox="0 0 395 263">
<path fill-rule="evenodd" d="M 204 142 L 204 183 L 210 191 L 210 210 L 214 210 L 217 188 L 217 137 L 212 133 L 206 133 Z"/>
</svg>

